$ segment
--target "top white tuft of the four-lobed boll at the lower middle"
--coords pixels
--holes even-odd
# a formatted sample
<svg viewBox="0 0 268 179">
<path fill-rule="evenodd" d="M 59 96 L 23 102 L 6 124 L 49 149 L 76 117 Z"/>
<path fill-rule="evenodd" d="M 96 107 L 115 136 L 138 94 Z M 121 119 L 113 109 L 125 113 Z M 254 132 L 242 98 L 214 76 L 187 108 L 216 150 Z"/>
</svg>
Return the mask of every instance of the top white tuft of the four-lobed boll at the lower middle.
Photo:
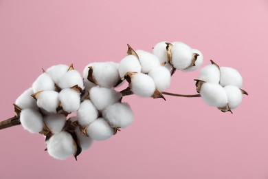
<svg viewBox="0 0 268 179">
<path fill-rule="evenodd" d="M 122 98 L 120 92 L 105 87 L 92 87 L 89 91 L 89 96 L 93 105 L 100 111 L 108 105 L 113 105 Z"/>
</svg>

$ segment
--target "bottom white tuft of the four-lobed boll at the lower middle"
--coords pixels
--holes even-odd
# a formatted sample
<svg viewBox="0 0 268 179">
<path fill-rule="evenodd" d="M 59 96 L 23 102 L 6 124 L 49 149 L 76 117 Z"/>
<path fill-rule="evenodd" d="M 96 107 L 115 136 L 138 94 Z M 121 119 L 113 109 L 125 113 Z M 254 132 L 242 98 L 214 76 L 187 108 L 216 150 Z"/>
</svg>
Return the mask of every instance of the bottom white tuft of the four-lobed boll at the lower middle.
<svg viewBox="0 0 268 179">
<path fill-rule="evenodd" d="M 113 136 L 113 131 L 113 128 L 103 118 L 98 118 L 87 127 L 87 134 L 93 140 L 106 140 Z"/>
</svg>

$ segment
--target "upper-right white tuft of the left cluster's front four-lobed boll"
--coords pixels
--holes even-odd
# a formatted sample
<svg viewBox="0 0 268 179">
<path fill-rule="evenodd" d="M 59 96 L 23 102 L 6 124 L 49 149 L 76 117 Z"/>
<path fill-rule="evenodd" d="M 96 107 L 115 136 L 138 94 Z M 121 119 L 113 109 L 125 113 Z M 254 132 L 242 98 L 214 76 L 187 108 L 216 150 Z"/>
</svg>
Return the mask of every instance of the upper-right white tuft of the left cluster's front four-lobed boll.
<svg viewBox="0 0 268 179">
<path fill-rule="evenodd" d="M 69 70 L 58 79 L 58 87 L 61 89 L 74 87 L 75 85 L 84 88 L 83 80 L 77 70 Z"/>
</svg>

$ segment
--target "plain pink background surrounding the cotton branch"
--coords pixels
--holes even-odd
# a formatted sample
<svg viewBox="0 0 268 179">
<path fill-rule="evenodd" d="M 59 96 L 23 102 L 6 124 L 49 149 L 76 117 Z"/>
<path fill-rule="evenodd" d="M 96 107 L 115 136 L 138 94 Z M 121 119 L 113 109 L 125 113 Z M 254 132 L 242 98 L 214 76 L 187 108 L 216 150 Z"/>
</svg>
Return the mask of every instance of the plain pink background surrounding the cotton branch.
<svg viewBox="0 0 268 179">
<path fill-rule="evenodd" d="M 151 50 L 184 41 L 241 72 L 249 92 L 234 114 L 201 98 L 127 96 L 135 123 L 61 161 L 43 136 L 21 126 L 0 131 L 0 178 L 268 178 L 268 2 L 0 0 L 1 120 L 41 68 L 120 61 L 126 43 Z M 194 94 L 192 73 L 177 72 L 169 92 Z"/>
</svg>

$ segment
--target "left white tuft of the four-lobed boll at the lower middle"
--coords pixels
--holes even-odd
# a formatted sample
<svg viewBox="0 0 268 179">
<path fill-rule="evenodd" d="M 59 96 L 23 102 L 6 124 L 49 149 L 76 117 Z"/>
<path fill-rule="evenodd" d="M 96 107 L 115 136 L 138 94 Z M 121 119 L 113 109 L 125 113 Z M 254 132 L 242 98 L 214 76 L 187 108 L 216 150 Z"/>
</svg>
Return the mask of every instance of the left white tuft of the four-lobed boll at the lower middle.
<svg viewBox="0 0 268 179">
<path fill-rule="evenodd" d="M 87 126 L 93 123 L 98 118 L 98 110 L 90 100 L 85 100 L 81 103 L 78 112 L 78 122 L 82 126 Z"/>
</svg>

